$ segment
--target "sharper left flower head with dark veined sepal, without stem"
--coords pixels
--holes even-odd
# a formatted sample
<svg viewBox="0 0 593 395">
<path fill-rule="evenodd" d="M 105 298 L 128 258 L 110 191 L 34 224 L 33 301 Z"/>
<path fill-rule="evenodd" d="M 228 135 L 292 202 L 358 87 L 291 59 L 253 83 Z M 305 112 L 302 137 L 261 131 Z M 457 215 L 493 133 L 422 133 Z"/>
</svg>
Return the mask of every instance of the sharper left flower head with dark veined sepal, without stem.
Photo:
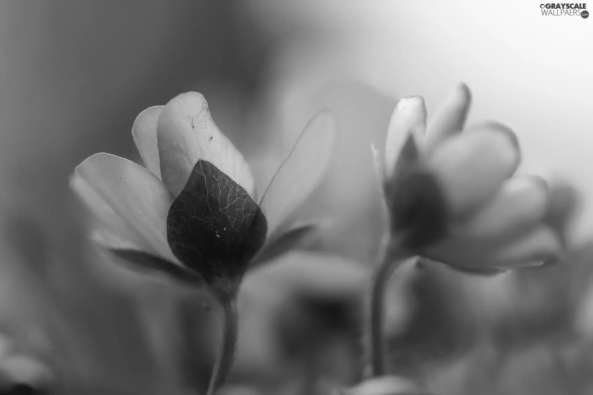
<svg viewBox="0 0 593 395">
<path fill-rule="evenodd" d="M 264 240 L 260 255 L 288 248 L 310 228 L 295 226 L 291 216 L 323 178 L 334 123 L 327 113 L 313 118 L 259 205 L 249 166 L 212 121 L 202 95 L 148 108 L 132 134 L 146 168 L 98 153 L 72 176 L 73 190 L 96 216 L 94 239 L 125 250 L 126 258 L 129 251 L 148 253 L 143 265 L 174 277 L 192 281 L 190 268 L 224 288 L 218 283 L 236 287 Z"/>
</svg>

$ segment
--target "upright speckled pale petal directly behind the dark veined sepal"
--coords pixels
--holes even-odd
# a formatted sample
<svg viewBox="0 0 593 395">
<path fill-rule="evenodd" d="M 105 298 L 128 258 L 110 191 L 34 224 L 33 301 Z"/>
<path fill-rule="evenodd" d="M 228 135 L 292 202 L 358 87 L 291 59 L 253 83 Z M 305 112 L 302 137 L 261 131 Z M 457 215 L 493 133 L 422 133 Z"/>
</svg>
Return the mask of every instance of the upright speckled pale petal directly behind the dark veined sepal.
<svg viewBox="0 0 593 395">
<path fill-rule="evenodd" d="M 161 178 L 177 196 L 199 159 L 206 160 L 241 185 L 256 200 L 251 169 L 210 115 L 197 92 L 178 95 L 165 106 L 157 126 Z"/>
</svg>

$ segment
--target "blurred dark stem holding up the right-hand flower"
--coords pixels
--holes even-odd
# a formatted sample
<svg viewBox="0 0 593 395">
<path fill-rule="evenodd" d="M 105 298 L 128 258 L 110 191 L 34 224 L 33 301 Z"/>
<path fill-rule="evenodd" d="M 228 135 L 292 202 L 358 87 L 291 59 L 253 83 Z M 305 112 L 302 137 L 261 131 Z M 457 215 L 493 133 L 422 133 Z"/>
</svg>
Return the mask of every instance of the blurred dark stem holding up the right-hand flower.
<svg viewBox="0 0 593 395">
<path fill-rule="evenodd" d="M 385 367 L 385 290 L 391 274 L 409 255 L 403 253 L 398 239 L 389 237 L 378 254 L 378 268 L 371 291 L 371 367 L 372 376 L 386 373 Z"/>
</svg>

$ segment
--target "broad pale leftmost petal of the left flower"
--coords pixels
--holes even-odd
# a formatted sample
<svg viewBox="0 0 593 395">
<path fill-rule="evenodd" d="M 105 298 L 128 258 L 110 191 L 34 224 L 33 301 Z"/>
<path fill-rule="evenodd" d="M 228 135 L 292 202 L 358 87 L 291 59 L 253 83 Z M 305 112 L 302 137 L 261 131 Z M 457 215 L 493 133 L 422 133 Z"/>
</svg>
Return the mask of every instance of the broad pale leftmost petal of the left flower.
<svg viewBox="0 0 593 395">
<path fill-rule="evenodd" d="M 76 167 L 70 182 L 104 229 L 141 251 L 177 262 L 165 225 L 173 196 L 157 176 L 130 160 L 97 153 Z"/>
</svg>

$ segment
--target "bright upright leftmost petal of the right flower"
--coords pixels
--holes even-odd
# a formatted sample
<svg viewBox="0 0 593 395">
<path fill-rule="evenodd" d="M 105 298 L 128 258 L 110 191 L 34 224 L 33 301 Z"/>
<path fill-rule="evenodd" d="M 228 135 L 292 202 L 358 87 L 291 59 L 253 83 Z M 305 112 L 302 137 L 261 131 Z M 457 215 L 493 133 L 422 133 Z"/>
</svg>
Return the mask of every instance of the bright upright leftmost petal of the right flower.
<svg viewBox="0 0 593 395">
<path fill-rule="evenodd" d="M 393 110 L 385 143 L 385 176 L 390 178 L 397 158 L 410 134 L 415 143 L 422 145 L 426 131 L 426 106 L 422 96 L 401 98 Z"/>
</svg>

